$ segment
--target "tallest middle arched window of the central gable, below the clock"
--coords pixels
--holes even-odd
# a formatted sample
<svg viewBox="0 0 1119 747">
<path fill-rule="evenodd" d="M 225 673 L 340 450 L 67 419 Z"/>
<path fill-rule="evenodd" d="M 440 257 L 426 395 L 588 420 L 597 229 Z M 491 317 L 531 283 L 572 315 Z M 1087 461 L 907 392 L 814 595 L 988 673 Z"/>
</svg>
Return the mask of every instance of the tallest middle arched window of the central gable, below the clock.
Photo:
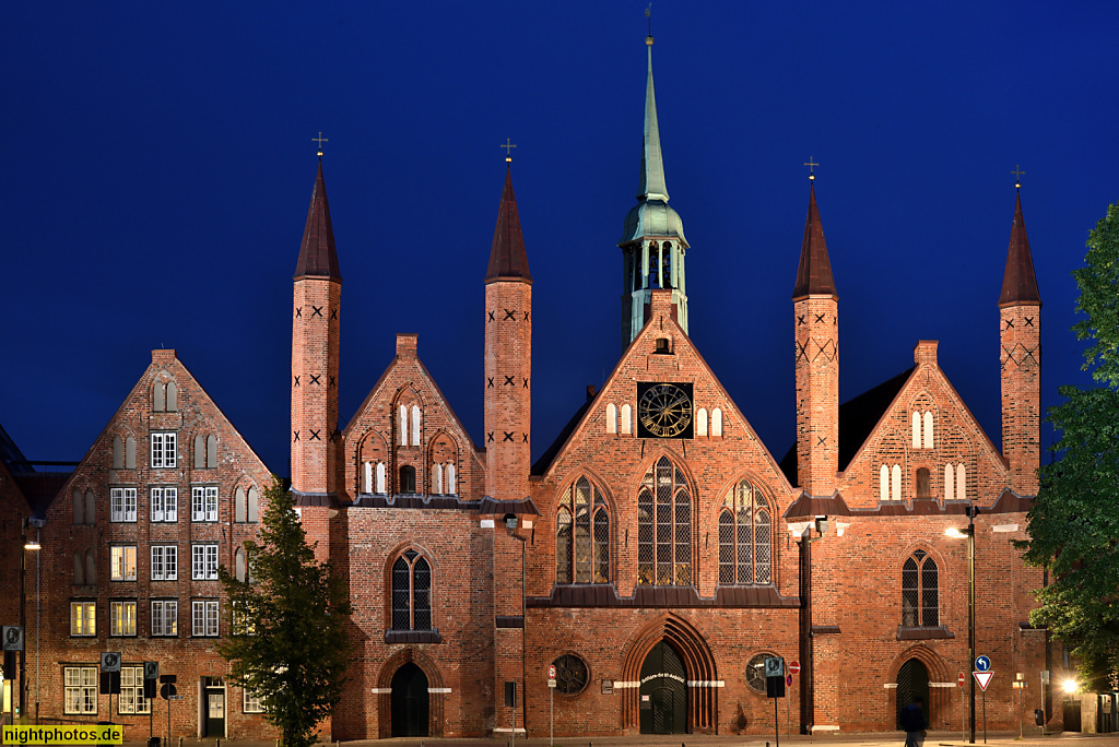
<svg viewBox="0 0 1119 747">
<path fill-rule="evenodd" d="M 637 499 L 638 584 L 692 585 L 692 492 L 684 473 L 661 456 Z"/>
</svg>

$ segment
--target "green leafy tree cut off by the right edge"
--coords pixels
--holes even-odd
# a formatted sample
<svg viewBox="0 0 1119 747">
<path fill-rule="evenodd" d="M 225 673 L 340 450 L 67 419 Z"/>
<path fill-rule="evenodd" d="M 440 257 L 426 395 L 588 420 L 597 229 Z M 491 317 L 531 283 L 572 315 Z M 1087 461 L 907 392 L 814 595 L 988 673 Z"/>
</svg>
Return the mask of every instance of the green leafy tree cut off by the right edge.
<svg viewBox="0 0 1119 747">
<path fill-rule="evenodd" d="M 1072 647 L 1091 684 L 1119 674 L 1119 205 L 1091 231 L 1084 267 L 1073 271 L 1087 315 L 1073 325 L 1094 387 L 1063 386 L 1046 420 L 1061 434 L 1038 471 L 1027 516 L 1025 559 L 1049 571 L 1031 614 Z"/>
</svg>

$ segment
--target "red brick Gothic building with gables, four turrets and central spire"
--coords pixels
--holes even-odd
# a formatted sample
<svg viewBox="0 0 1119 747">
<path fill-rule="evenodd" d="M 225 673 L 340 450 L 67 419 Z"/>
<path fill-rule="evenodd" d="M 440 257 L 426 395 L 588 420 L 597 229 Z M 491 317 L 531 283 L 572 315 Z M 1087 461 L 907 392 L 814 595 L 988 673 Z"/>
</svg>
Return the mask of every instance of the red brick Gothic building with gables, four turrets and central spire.
<svg viewBox="0 0 1119 747">
<path fill-rule="evenodd" d="M 1014 673 L 1034 682 L 1049 669 L 1046 634 L 1026 623 L 1041 571 L 1012 546 L 1040 458 L 1041 299 L 1021 201 L 1000 350 L 986 363 L 1002 378 L 999 448 L 938 366 L 935 341 L 914 341 L 912 368 L 839 403 L 839 289 L 810 187 L 788 278 L 797 443 L 775 453 L 786 445 L 762 443 L 688 337 L 689 247 L 668 206 L 647 41 L 640 195 L 619 243 L 627 347 L 570 424 L 544 434 L 535 463 L 533 278 L 511 172 L 480 278 L 474 444 L 412 334 L 396 337 L 395 358 L 340 425 L 342 278 L 320 164 L 293 283 L 292 490 L 319 556 L 344 577 L 356 643 L 323 732 L 540 736 L 553 703 L 557 735 L 762 732 L 774 656 L 800 666 L 781 707 L 798 730 L 893 729 L 918 694 L 932 728 L 955 729 L 956 675 L 970 671 L 968 542 L 946 531 L 966 528 L 972 508 L 976 651 L 998 662 L 988 725 L 1009 728 Z M 98 652 L 115 650 L 128 665 L 179 673 L 173 734 L 264 734 L 258 702 L 214 652 L 226 611 L 213 568 L 243 568 L 267 480 L 173 351 L 154 351 L 45 512 L 44 717 L 111 713 L 141 728 L 147 717 L 86 684 Z M 12 522 L 27 516 L 0 494 Z"/>
</svg>

